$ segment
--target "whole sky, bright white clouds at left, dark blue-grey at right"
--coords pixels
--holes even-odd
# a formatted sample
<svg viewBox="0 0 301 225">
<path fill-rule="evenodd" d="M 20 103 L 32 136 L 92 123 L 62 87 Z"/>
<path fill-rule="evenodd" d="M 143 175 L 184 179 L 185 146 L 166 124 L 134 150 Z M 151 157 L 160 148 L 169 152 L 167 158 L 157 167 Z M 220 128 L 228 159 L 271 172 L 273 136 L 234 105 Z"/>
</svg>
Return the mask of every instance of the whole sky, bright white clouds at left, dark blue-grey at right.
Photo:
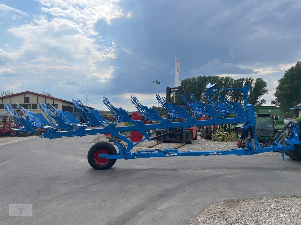
<svg viewBox="0 0 301 225">
<path fill-rule="evenodd" d="M 135 110 L 193 76 L 277 81 L 301 59 L 301 1 L 0 0 L 0 90 Z"/>
</svg>

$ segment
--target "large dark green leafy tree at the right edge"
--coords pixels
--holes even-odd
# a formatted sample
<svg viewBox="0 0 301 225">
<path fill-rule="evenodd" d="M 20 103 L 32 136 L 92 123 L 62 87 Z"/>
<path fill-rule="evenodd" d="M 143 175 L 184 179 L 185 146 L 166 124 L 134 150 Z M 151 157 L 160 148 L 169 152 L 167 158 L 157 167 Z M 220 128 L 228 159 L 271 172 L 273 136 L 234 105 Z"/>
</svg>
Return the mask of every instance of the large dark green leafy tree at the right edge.
<svg viewBox="0 0 301 225">
<path fill-rule="evenodd" d="M 278 87 L 274 94 L 275 101 L 272 104 L 278 105 L 285 113 L 301 101 L 301 61 L 295 66 L 286 70 L 284 76 L 278 80 Z"/>
</svg>

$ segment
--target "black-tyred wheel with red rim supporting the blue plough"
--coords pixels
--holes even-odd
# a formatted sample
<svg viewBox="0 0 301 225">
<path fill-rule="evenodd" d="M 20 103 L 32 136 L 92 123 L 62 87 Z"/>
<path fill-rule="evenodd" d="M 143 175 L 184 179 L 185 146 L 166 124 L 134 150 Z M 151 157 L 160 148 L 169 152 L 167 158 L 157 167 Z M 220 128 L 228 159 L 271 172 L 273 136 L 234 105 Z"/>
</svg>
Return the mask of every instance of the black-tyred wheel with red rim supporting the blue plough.
<svg viewBox="0 0 301 225">
<path fill-rule="evenodd" d="M 107 142 L 98 142 L 94 144 L 88 152 L 88 162 L 95 170 L 107 170 L 113 167 L 116 159 L 101 158 L 98 154 L 117 155 L 116 149 L 113 145 Z"/>
</svg>

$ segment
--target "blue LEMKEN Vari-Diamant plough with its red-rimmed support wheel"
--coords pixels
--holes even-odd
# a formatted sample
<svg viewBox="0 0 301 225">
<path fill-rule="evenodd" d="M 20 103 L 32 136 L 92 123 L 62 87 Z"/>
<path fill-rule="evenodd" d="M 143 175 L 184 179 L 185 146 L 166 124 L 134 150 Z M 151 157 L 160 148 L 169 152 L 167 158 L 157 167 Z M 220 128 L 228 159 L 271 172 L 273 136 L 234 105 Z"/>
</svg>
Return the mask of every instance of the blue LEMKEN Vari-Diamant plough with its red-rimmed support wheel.
<svg viewBox="0 0 301 225">
<path fill-rule="evenodd" d="M 63 112 L 55 109 L 50 104 L 40 103 L 40 107 L 46 114 L 45 117 L 41 114 L 31 113 L 18 105 L 18 110 L 22 111 L 23 116 L 18 116 L 12 110 L 11 105 L 5 104 L 5 108 L 8 113 L 13 117 L 14 121 L 19 124 L 22 123 L 21 131 L 36 132 L 34 128 L 46 128 L 48 131 L 41 135 L 41 138 L 60 138 L 60 137 L 82 137 L 86 135 L 95 134 L 111 134 L 113 137 L 117 137 L 124 143 L 114 141 L 115 145 L 119 149 L 117 153 L 116 148 L 110 143 L 100 142 L 93 145 L 88 151 L 89 164 L 98 170 L 105 170 L 112 167 L 117 159 L 137 159 L 137 158 L 152 158 L 152 157 L 178 157 L 178 156 L 212 156 L 212 155 L 254 155 L 262 152 L 281 151 L 282 159 L 284 160 L 285 152 L 293 151 L 295 154 L 300 155 L 300 148 L 298 145 L 300 141 L 300 121 L 289 122 L 280 133 L 278 133 L 272 140 L 264 145 L 260 145 L 256 138 L 256 118 L 254 113 L 254 106 L 248 104 L 247 93 L 249 87 L 244 85 L 243 88 L 223 88 L 214 89 L 218 85 L 210 83 L 206 86 L 206 98 L 211 104 L 203 104 L 193 95 L 190 95 L 190 101 L 185 99 L 185 96 L 181 97 L 185 99 L 185 104 L 188 105 L 190 112 L 188 113 L 183 106 L 175 106 L 170 103 L 164 97 L 157 95 L 157 100 L 169 114 L 171 119 L 181 118 L 184 121 L 170 122 L 169 119 L 161 118 L 154 108 L 143 106 L 139 103 L 135 96 L 131 97 L 132 103 L 137 110 L 144 116 L 146 120 L 156 120 L 157 124 L 143 124 L 140 120 L 133 120 L 126 113 L 126 110 L 122 108 L 116 108 L 107 98 L 104 98 L 104 104 L 109 108 L 112 114 L 115 116 L 117 122 L 132 123 L 132 126 L 117 126 L 114 122 L 107 122 L 97 110 L 91 110 L 85 107 L 79 100 L 72 100 L 74 107 L 78 110 L 82 118 L 85 119 L 84 124 L 80 124 L 74 119 L 69 112 Z M 244 107 L 239 103 L 233 103 L 222 97 L 220 91 L 224 90 L 239 90 L 244 94 Z M 233 113 L 236 116 L 233 118 L 222 118 L 222 116 L 228 113 Z M 193 116 L 191 116 L 193 115 Z M 202 115 L 210 116 L 208 120 L 196 120 L 197 117 Z M 55 121 L 55 122 L 54 122 Z M 161 137 L 150 137 L 151 134 L 148 131 L 152 129 L 167 129 L 178 128 L 170 132 L 178 132 L 195 126 L 205 125 L 220 125 L 220 124 L 233 124 L 244 123 L 241 127 L 248 132 L 243 142 L 246 143 L 246 147 L 237 147 L 236 149 L 227 149 L 224 151 L 186 151 L 178 152 L 178 149 L 149 149 L 149 150 L 137 150 L 131 152 L 134 146 L 144 140 L 157 140 Z M 48 125 L 47 125 L 48 124 Z M 87 129 L 88 126 L 100 126 L 101 128 Z M 60 131 L 64 129 L 64 131 Z M 133 143 L 122 132 L 138 131 L 144 136 L 140 142 Z M 170 133 L 169 132 L 169 133 Z M 166 134 L 162 134 L 165 136 Z"/>
</svg>

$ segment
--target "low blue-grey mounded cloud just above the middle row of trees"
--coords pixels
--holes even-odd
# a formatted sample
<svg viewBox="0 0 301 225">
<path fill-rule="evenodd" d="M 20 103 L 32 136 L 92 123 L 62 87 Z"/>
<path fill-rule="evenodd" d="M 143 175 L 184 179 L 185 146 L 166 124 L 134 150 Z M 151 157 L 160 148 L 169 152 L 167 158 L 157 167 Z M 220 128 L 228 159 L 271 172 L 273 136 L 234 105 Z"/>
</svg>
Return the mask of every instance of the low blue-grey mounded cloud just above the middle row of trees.
<svg viewBox="0 0 301 225">
<path fill-rule="evenodd" d="M 221 61 L 219 58 L 213 58 L 198 70 L 191 70 L 192 76 L 211 76 L 211 75 L 245 75 L 256 74 L 257 72 L 249 68 L 241 68 L 232 63 Z"/>
</svg>

